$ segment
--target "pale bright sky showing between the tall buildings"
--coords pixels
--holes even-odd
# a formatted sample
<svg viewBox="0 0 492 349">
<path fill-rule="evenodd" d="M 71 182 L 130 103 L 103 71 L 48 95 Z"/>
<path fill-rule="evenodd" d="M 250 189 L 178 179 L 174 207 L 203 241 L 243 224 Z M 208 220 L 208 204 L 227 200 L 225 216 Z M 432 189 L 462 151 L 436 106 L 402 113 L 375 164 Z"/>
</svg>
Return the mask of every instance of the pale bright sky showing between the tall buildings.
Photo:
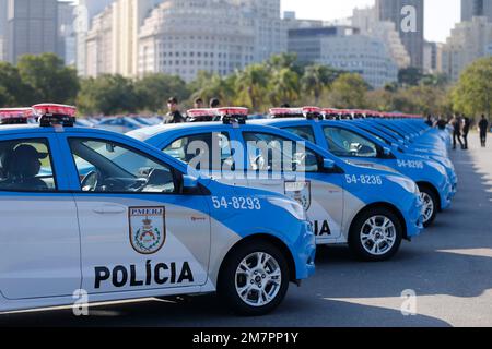
<svg viewBox="0 0 492 349">
<path fill-rule="evenodd" d="M 459 0 L 424 0 L 425 38 L 444 43 L 460 21 Z M 374 5 L 375 0 L 282 0 L 283 11 L 295 11 L 297 19 L 337 20 L 351 16 L 354 8 Z"/>
</svg>

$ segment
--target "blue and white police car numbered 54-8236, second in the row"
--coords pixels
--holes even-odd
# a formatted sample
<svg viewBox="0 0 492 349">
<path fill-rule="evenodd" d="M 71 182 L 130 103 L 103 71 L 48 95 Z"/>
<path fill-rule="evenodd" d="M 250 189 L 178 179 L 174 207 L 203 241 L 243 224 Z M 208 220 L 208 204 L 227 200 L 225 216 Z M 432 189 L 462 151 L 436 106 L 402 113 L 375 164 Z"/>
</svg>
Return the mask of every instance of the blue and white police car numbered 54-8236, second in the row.
<svg viewBox="0 0 492 349">
<path fill-rule="evenodd" d="M 290 132 L 246 122 L 245 108 L 208 112 L 223 122 L 163 124 L 129 135 L 218 181 L 293 197 L 307 210 L 317 244 L 349 243 L 363 260 L 385 261 L 402 239 L 420 233 L 422 202 L 409 178 L 347 164 Z"/>
</svg>

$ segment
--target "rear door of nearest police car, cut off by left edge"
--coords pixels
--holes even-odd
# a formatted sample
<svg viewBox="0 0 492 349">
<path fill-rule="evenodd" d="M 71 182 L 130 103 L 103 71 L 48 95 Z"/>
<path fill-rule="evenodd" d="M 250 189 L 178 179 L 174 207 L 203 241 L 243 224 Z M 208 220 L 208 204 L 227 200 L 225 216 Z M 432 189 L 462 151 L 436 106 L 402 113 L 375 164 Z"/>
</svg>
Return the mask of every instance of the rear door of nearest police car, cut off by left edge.
<svg viewBox="0 0 492 349">
<path fill-rule="evenodd" d="M 77 206 L 51 134 L 0 141 L 0 292 L 71 297 L 80 289 Z"/>
</svg>

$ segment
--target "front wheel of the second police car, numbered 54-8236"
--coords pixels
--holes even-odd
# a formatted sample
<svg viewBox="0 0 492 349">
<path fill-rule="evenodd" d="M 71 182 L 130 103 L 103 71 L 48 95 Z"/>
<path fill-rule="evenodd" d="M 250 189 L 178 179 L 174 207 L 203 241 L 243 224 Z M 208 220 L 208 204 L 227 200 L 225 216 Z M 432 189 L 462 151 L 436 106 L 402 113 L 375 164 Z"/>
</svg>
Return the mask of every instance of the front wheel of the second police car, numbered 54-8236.
<svg viewBox="0 0 492 349">
<path fill-rule="evenodd" d="M 402 238 L 401 221 L 390 209 L 370 208 L 353 221 L 349 248 L 362 261 L 383 262 L 398 252 Z"/>
</svg>

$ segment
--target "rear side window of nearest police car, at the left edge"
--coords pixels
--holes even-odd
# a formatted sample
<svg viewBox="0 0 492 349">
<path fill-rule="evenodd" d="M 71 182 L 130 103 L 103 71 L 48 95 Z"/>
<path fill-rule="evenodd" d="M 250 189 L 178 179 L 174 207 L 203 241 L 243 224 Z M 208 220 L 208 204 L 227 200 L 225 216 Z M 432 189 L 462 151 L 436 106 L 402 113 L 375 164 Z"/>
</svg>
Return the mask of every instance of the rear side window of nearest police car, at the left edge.
<svg viewBox="0 0 492 349">
<path fill-rule="evenodd" d="M 0 142 L 0 191 L 57 189 L 47 140 Z"/>
</svg>

